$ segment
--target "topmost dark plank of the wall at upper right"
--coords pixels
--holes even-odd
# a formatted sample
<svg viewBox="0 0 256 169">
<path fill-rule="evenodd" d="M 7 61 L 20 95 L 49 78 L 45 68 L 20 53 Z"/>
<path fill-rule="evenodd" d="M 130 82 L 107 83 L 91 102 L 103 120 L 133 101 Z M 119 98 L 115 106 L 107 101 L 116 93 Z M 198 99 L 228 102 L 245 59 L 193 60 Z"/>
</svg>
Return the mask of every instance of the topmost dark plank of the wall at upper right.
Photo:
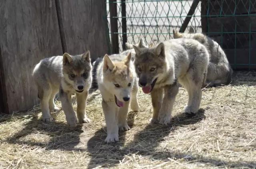
<svg viewBox="0 0 256 169">
<path fill-rule="evenodd" d="M 211 0 L 206 2 L 208 15 L 238 15 L 256 13 L 254 0 Z M 249 11 L 250 9 L 250 11 Z"/>
</svg>

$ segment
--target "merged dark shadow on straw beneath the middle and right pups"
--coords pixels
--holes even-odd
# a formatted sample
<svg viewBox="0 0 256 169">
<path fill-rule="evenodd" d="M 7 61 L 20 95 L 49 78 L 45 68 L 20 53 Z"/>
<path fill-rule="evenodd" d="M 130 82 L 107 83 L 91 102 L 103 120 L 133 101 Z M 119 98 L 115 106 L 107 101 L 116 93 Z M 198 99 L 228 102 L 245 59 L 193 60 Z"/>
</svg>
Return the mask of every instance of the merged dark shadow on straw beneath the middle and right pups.
<svg viewBox="0 0 256 169">
<path fill-rule="evenodd" d="M 134 140 L 124 145 L 125 133 L 119 132 L 120 141 L 113 144 L 105 144 L 104 130 L 98 130 L 87 143 L 87 149 L 91 154 L 91 160 L 88 168 L 97 166 L 112 167 L 119 163 L 119 161 L 130 153 L 139 153 L 140 155 L 150 155 L 155 152 L 155 148 L 164 141 L 164 138 L 170 134 L 176 127 L 195 124 L 206 118 L 204 110 L 200 109 L 198 114 L 192 118 L 186 117 L 183 113 L 174 116 L 169 126 L 162 126 L 160 124 L 147 124 L 146 127 L 135 134 Z M 134 118 L 128 118 L 128 124 L 132 128 Z M 175 127 L 174 127 L 175 126 Z M 162 153 L 162 152 L 159 152 Z M 158 154 L 158 153 L 152 153 Z M 182 155 L 180 155 L 181 157 Z M 183 157 L 183 156 L 182 156 Z M 154 158 L 154 157 L 153 157 Z M 99 159 L 102 159 L 99 161 Z M 167 159 L 167 157 L 166 157 Z"/>
</svg>

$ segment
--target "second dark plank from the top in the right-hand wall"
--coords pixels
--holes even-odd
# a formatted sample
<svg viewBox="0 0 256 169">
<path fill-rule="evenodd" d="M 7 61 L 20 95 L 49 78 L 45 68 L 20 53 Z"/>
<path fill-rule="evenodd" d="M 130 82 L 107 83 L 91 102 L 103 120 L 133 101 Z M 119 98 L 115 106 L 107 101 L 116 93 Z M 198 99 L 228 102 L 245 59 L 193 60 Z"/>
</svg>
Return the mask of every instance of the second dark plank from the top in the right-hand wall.
<svg viewBox="0 0 256 169">
<path fill-rule="evenodd" d="M 256 31 L 256 16 L 229 16 L 208 18 L 209 32 Z M 251 26 L 251 29 L 250 29 Z"/>
</svg>

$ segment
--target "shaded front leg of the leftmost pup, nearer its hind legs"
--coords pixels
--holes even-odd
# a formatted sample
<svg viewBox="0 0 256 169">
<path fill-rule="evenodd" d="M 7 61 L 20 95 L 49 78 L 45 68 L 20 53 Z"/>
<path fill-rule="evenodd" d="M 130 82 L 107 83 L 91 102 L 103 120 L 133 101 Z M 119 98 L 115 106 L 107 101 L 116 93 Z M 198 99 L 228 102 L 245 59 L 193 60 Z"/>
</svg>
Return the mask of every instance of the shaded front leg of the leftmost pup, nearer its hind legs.
<svg viewBox="0 0 256 169">
<path fill-rule="evenodd" d="M 76 127 L 77 125 L 77 118 L 76 113 L 74 112 L 74 109 L 71 104 L 71 93 L 68 91 L 64 91 L 60 87 L 60 101 L 62 109 L 65 113 L 66 120 L 70 127 Z"/>
</svg>

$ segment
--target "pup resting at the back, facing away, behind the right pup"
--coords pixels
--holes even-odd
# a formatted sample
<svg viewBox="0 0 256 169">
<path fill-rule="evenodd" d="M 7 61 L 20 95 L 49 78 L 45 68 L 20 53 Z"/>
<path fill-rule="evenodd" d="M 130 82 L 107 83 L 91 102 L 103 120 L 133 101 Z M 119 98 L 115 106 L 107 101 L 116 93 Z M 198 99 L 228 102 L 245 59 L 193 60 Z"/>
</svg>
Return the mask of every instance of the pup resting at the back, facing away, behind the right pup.
<svg viewBox="0 0 256 169">
<path fill-rule="evenodd" d="M 195 39 L 206 47 L 210 57 L 206 77 L 209 86 L 228 85 L 231 82 L 233 70 L 225 52 L 216 41 L 202 33 L 194 33 L 193 29 L 190 29 L 190 33 L 179 33 L 174 29 L 173 36 L 174 39 Z"/>
</svg>

